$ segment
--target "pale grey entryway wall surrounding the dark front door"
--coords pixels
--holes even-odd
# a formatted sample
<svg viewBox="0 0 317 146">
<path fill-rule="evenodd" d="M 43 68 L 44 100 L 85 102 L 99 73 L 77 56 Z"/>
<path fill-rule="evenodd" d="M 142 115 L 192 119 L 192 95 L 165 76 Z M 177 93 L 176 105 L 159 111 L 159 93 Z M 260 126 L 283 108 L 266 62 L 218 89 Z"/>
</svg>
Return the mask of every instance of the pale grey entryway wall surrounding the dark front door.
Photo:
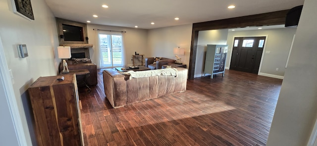
<svg viewBox="0 0 317 146">
<path fill-rule="evenodd" d="M 255 30 L 255 31 L 237 31 L 228 33 L 228 57 L 226 60 L 226 68 L 229 68 L 232 45 L 234 37 L 265 37 L 265 50 L 269 54 L 265 54 L 261 66 L 260 75 L 270 75 L 271 77 L 283 78 L 285 73 L 285 65 L 288 57 L 288 52 L 291 47 L 293 36 L 296 33 L 296 28 L 282 28 L 269 30 Z M 279 68 L 278 71 L 275 71 Z"/>
</svg>

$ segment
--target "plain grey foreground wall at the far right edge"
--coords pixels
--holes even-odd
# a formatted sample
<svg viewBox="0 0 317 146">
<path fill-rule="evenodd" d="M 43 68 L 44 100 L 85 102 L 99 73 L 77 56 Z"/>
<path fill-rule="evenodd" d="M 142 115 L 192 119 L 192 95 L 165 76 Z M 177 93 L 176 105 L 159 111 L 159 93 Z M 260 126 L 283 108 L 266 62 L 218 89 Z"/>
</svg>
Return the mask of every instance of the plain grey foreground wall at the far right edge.
<svg viewBox="0 0 317 146">
<path fill-rule="evenodd" d="M 306 146 L 317 111 L 317 0 L 305 0 L 267 146 Z"/>
</svg>

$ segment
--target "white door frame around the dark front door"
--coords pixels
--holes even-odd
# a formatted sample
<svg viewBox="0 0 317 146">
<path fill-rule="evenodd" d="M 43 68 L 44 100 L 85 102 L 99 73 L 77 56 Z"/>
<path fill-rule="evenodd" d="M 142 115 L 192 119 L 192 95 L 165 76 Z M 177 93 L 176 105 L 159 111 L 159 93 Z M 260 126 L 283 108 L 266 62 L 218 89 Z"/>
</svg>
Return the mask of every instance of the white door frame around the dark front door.
<svg viewBox="0 0 317 146">
<path fill-rule="evenodd" d="M 267 44 L 267 39 L 268 39 L 268 35 L 253 35 L 253 36 L 233 36 L 232 37 L 232 42 L 231 42 L 231 46 L 230 47 L 230 54 L 229 57 L 227 59 L 229 59 L 228 61 L 228 67 L 225 67 L 225 69 L 229 70 L 230 68 L 230 64 L 231 64 L 231 57 L 232 57 L 232 47 L 234 45 L 234 38 L 235 37 L 265 37 L 265 41 L 264 41 L 264 47 L 263 47 L 263 52 L 262 52 L 262 56 L 261 56 L 261 61 L 260 61 L 260 67 L 259 67 L 259 71 L 257 74 L 261 73 L 261 68 L 262 68 L 262 63 L 263 63 L 263 58 L 264 58 L 264 54 L 265 54 L 265 49 L 266 49 L 266 44 Z M 228 54 L 227 54 L 228 55 Z"/>
</svg>

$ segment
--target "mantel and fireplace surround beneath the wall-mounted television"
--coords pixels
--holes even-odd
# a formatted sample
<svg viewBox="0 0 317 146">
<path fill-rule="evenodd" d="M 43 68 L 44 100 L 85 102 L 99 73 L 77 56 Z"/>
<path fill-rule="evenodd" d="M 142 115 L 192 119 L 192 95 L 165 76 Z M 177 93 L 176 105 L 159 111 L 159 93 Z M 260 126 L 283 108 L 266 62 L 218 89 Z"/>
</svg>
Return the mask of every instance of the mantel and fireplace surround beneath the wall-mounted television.
<svg viewBox="0 0 317 146">
<path fill-rule="evenodd" d="M 59 46 L 70 46 L 71 54 L 85 53 L 85 58 L 90 59 L 89 48 L 92 48 L 93 44 L 60 44 Z"/>
</svg>

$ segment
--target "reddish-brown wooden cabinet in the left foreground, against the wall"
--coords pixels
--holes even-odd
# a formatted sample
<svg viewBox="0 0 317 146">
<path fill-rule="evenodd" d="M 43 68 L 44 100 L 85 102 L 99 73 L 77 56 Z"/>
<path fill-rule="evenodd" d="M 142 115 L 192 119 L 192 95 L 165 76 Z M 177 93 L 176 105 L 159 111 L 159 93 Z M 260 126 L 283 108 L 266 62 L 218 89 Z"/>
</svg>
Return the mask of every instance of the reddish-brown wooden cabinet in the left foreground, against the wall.
<svg viewBox="0 0 317 146">
<path fill-rule="evenodd" d="M 38 146 L 82 146 L 75 74 L 39 77 L 28 89 Z"/>
</svg>

